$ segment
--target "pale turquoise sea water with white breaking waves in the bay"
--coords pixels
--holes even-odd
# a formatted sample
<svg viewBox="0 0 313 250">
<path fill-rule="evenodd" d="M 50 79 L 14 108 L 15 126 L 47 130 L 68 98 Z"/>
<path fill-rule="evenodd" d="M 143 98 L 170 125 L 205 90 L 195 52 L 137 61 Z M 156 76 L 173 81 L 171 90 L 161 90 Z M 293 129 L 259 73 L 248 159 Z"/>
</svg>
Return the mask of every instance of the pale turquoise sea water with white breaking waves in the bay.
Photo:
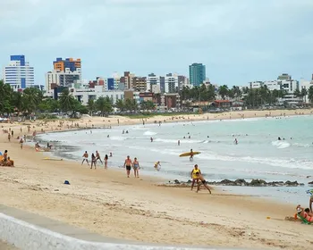
<svg viewBox="0 0 313 250">
<path fill-rule="evenodd" d="M 55 154 L 78 162 L 84 151 L 91 155 L 97 150 L 102 158 L 111 152 L 108 166 L 113 168 L 121 167 L 127 155 L 137 157 L 142 173 L 168 180 L 190 179 L 195 163 L 208 181 L 297 180 L 305 186 L 221 188 L 305 205 L 309 204 L 305 191 L 313 179 L 308 178 L 313 176 L 312 125 L 313 116 L 185 121 L 49 133 L 39 139 L 55 145 Z M 190 149 L 201 154 L 192 162 L 189 157 L 179 157 Z M 153 167 L 157 161 L 161 162 L 160 171 Z"/>
</svg>

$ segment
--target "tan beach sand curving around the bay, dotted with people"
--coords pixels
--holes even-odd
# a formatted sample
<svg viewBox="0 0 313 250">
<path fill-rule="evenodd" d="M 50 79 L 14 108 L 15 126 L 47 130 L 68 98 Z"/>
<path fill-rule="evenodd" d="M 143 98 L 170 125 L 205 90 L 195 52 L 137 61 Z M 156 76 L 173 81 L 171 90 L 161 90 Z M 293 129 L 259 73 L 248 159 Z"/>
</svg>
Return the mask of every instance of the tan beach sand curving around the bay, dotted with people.
<svg viewBox="0 0 313 250">
<path fill-rule="evenodd" d="M 283 111 L 292 115 L 295 111 Z M 281 111 L 271 111 L 279 116 Z M 297 112 L 297 111 L 296 111 Z M 301 110 L 310 114 L 310 110 Z M 264 117 L 267 112 L 233 112 L 232 117 L 244 113 L 245 118 Z M 226 119 L 230 113 L 208 114 L 209 119 Z M 207 120 L 207 114 L 188 115 L 184 119 L 157 116 L 154 121 Z M 79 121 L 80 128 L 141 123 L 125 117 L 87 118 Z M 18 123 L 2 124 L 11 127 L 14 137 L 26 134 L 26 126 Z M 36 129 L 63 130 L 58 122 L 39 125 Z M 0 167 L 0 203 L 35 212 L 51 219 L 89 229 L 107 237 L 130 240 L 197 246 L 242 246 L 256 248 L 310 249 L 312 226 L 299 221 L 284 221 L 292 216 L 295 206 L 275 204 L 254 196 L 229 195 L 223 187 L 216 187 L 213 195 L 203 189 L 198 194 L 190 188 L 158 187 L 163 179 L 141 176 L 126 178 L 123 169 L 90 170 L 87 165 L 72 161 L 49 161 L 34 147 L 19 146 L 17 139 L 0 136 L 0 151 L 7 149 L 15 162 L 14 168 Z M 80 160 L 80 159 L 79 159 Z M 121 164 L 123 159 L 121 159 Z M 191 170 L 190 170 L 191 171 Z M 71 185 L 63 185 L 64 180 Z M 309 202 L 309 200 L 308 200 Z M 306 205 L 306 204 L 303 204 Z M 267 219 L 270 218 L 270 219 Z"/>
</svg>

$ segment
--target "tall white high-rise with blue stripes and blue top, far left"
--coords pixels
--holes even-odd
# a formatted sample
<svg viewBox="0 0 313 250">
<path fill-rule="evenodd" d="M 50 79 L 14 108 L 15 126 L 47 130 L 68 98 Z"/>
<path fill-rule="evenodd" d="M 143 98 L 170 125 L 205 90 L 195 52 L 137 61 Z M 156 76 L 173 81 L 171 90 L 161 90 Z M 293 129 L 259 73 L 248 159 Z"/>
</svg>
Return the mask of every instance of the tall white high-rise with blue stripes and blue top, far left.
<svg viewBox="0 0 313 250">
<path fill-rule="evenodd" d="M 11 55 L 10 63 L 3 69 L 4 83 L 10 84 L 14 91 L 22 91 L 35 84 L 34 68 L 25 61 L 25 55 Z"/>
</svg>

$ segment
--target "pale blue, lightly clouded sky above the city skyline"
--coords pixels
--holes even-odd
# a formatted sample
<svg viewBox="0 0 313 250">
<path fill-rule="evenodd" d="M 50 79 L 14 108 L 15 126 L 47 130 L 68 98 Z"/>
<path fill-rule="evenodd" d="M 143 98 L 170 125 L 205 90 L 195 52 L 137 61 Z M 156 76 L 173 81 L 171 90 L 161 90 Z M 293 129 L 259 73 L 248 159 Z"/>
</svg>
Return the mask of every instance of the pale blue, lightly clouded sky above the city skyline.
<svg viewBox="0 0 313 250">
<path fill-rule="evenodd" d="M 38 84 L 56 57 L 80 58 L 83 79 L 191 63 L 219 85 L 311 79 L 312 24 L 312 0 L 0 0 L 0 68 L 24 54 Z"/>
</svg>

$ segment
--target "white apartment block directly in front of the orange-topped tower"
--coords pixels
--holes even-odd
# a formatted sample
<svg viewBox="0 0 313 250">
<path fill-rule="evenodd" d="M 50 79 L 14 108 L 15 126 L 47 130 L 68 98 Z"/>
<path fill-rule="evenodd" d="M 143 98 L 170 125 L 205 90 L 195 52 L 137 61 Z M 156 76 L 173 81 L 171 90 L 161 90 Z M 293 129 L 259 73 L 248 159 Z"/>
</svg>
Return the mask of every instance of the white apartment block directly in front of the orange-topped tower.
<svg viewBox="0 0 313 250">
<path fill-rule="evenodd" d="M 77 71 L 70 71 L 68 68 L 66 68 L 65 71 L 48 71 L 46 74 L 46 91 L 51 89 L 51 84 L 61 87 L 72 87 L 72 84 L 80 83 L 80 80 L 80 68 L 78 68 Z"/>
</svg>

